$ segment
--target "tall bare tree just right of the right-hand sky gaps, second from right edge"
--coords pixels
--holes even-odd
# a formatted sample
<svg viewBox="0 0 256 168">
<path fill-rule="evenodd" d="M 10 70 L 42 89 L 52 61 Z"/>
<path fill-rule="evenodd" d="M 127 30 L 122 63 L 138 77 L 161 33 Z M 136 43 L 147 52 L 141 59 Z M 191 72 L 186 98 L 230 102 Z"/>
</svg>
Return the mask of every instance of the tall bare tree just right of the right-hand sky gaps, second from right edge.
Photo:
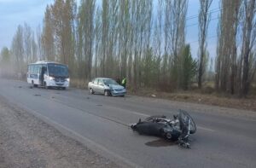
<svg viewBox="0 0 256 168">
<path fill-rule="evenodd" d="M 236 79 L 236 55 L 237 43 L 236 35 L 239 24 L 240 0 L 233 3 L 222 1 L 222 9 L 218 25 L 218 49 L 216 62 L 216 80 L 217 90 L 235 92 Z"/>
</svg>

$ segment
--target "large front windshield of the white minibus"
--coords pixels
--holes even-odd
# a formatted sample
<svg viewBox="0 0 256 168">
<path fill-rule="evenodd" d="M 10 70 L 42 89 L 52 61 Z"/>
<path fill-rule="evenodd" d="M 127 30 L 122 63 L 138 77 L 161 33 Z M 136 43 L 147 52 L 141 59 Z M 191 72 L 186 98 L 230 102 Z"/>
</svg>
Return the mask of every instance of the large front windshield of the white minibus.
<svg viewBox="0 0 256 168">
<path fill-rule="evenodd" d="M 61 64 L 48 64 L 49 76 L 68 78 L 67 66 Z"/>
</svg>

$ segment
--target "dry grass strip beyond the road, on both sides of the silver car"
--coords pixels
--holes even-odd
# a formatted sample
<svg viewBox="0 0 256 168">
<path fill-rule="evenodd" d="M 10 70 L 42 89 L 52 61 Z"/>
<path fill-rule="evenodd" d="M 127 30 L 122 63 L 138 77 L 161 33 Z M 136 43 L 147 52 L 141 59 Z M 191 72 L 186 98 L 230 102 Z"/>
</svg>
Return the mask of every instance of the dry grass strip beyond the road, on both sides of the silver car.
<svg viewBox="0 0 256 168">
<path fill-rule="evenodd" d="M 87 89 L 88 82 L 89 81 L 81 79 L 72 79 L 71 85 L 79 89 Z M 250 91 L 251 95 L 247 96 L 247 98 L 240 99 L 238 96 L 216 93 L 212 87 L 212 83 L 204 85 L 205 87 L 201 90 L 198 90 L 197 87 L 194 86 L 188 91 L 177 90 L 171 93 L 148 88 L 141 88 L 139 90 L 128 88 L 128 91 L 129 94 L 137 96 L 156 97 L 172 101 L 194 102 L 219 107 L 232 107 L 256 111 L 256 87 L 252 87 L 252 90 Z"/>
</svg>

